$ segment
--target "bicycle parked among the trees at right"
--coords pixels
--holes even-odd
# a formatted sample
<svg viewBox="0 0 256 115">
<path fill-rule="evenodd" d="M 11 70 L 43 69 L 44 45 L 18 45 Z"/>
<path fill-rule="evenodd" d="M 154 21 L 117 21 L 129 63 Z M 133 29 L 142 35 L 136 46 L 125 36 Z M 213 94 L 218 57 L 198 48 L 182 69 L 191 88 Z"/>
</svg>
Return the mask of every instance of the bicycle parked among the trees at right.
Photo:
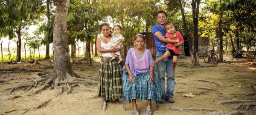
<svg viewBox="0 0 256 115">
<path fill-rule="evenodd" d="M 217 53 L 215 52 L 215 50 L 207 50 L 207 48 L 210 48 L 210 47 L 204 47 L 206 49 L 205 53 L 203 53 L 203 59 L 204 59 L 204 62 L 213 62 L 215 65 L 218 64 L 218 55 Z M 204 49 L 202 48 L 202 49 Z M 208 59 L 207 59 L 208 57 Z"/>
</svg>

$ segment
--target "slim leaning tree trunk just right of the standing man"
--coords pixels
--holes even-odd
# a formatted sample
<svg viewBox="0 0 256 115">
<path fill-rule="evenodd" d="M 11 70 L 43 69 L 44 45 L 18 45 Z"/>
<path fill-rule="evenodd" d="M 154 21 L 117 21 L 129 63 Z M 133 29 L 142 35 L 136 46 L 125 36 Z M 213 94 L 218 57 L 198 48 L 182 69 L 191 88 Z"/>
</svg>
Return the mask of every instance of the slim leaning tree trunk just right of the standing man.
<svg viewBox="0 0 256 115">
<path fill-rule="evenodd" d="M 179 6 L 180 6 L 180 11 L 181 11 L 182 19 L 183 19 L 185 35 L 186 35 L 186 38 L 187 38 L 187 41 L 188 41 L 188 44 L 189 44 L 189 52 L 190 52 L 190 54 L 192 54 L 193 53 L 193 50 L 192 50 L 192 40 L 189 37 L 189 32 L 188 32 L 187 25 L 186 25 L 186 17 L 185 17 L 185 14 L 184 14 L 184 9 L 183 9 L 181 0 L 179 0 Z M 192 55 L 191 55 L 191 61 L 192 61 Z"/>
</svg>

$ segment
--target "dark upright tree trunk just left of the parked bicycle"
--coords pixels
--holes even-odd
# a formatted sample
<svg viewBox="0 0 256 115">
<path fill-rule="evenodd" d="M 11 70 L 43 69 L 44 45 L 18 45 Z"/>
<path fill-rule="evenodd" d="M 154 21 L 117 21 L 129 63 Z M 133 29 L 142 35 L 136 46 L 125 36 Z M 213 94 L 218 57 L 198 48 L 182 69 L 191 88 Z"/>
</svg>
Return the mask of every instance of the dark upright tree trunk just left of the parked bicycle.
<svg viewBox="0 0 256 115">
<path fill-rule="evenodd" d="M 199 65 L 199 55 L 198 55 L 198 14 L 199 14 L 200 0 L 192 0 L 192 16 L 194 24 L 194 49 L 191 53 L 192 65 Z"/>
</svg>

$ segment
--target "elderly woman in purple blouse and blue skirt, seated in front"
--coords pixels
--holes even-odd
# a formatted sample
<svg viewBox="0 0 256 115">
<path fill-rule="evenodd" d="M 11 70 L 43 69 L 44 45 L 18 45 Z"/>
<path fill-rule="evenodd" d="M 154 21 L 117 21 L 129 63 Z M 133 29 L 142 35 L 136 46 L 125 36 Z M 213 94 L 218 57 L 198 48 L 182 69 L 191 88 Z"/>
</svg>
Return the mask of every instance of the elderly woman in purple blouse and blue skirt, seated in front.
<svg viewBox="0 0 256 115">
<path fill-rule="evenodd" d="M 146 115 L 152 115 L 151 100 L 160 101 L 162 96 L 151 52 L 143 48 L 144 44 L 144 36 L 137 34 L 134 38 L 135 48 L 129 49 L 125 62 L 128 74 L 123 78 L 124 95 L 127 100 L 132 100 L 133 115 L 139 115 L 136 99 L 148 100 Z"/>
</svg>

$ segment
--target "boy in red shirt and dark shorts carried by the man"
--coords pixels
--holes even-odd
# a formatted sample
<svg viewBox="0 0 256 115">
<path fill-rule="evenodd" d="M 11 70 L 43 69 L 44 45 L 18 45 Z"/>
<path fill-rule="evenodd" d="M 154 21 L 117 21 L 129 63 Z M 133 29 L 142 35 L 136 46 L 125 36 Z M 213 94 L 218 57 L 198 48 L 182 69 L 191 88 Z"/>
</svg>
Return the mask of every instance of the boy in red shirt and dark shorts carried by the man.
<svg viewBox="0 0 256 115">
<path fill-rule="evenodd" d="M 172 23 L 166 23 L 164 25 L 164 28 L 166 30 L 166 36 L 165 38 L 168 40 L 168 42 L 171 42 L 171 39 L 173 40 L 177 40 L 177 43 L 179 42 L 183 42 L 183 37 L 180 34 L 180 32 L 175 31 L 174 25 Z M 166 52 L 163 54 L 163 56 L 161 56 L 159 59 L 157 59 L 156 62 L 154 62 L 154 65 L 156 65 L 157 63 L 161 62 L 163 59 L 166 59 L 169 56 L 173 56 L 172 59 L 172 73 L 171 73 L 171 77 L 174 77 L 174 72 L 175 72 L 175 67 L 177 65 L 177 59 L 178 56 L 180 54 L 180 48 L 179 46 L 175 47 L 175 44 L 177 43 L 166 43 Z"/>
</svg>

